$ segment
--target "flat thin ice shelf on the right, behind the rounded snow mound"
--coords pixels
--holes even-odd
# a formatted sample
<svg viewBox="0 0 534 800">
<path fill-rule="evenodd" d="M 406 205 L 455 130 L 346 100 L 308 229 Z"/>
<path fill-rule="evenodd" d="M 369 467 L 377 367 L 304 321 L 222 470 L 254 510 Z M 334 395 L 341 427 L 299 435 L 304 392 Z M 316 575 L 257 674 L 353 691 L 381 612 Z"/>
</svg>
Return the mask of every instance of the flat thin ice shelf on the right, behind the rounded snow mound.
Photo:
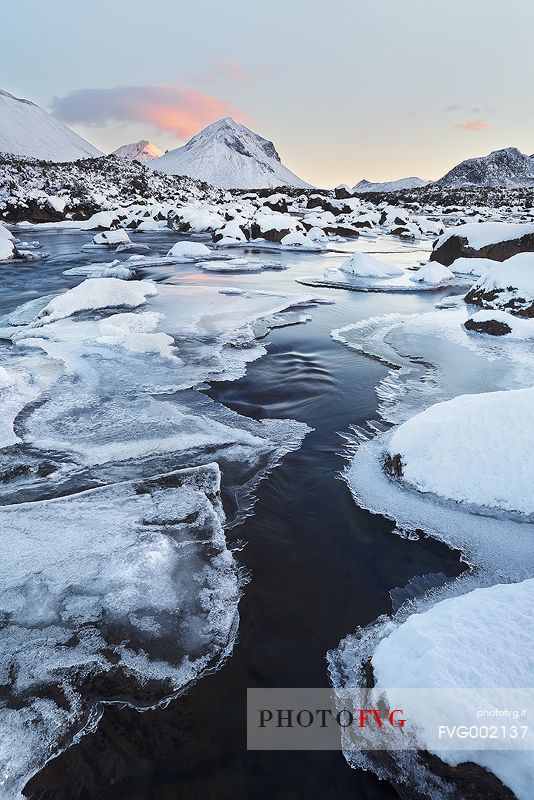
<svg viewBox="0 0 534 800">
<path fill-rule="evenodd" d="M 464 327 L 469 316 L 463 303 L 425 314 L 388 314 L 347 325 L 332 337 L 392 367 L 376 391 L 380 417 L 399 424 L 459 394 L 530 386 L 528 342 L 470 333 Z"/>
</svg>

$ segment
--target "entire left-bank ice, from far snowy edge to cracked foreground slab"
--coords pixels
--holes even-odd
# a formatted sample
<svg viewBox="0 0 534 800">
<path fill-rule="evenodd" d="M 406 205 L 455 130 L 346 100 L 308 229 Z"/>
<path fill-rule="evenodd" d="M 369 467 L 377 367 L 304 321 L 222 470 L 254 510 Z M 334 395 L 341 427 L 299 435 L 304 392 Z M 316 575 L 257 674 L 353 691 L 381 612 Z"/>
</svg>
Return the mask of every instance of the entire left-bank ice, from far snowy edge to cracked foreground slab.
<svg viewBox="0 0 534 800">
<path fill-rule="evenodd" d="M 200 389 L 243 375 L 258 339 L 313 302 L 90 278 L 3 320 L 0 493 L 35 502 L 0 508 L 0 797 L 96 724 L 102 700 L 158 703 L 230 652 L 220 471 L 235 524 L 309 429 Z"/>
</svg>

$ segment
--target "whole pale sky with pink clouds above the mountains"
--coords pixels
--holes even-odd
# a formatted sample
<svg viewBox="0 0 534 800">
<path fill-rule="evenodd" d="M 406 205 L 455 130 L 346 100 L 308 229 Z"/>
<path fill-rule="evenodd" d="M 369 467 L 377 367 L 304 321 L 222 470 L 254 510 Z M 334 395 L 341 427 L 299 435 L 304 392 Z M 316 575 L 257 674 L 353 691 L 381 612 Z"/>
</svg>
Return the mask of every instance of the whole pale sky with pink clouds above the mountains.
<svg viewBox="0 0 534 800">
<path fill-rule="evenodd" d="M 533 0 L 17 0 L 0 88 L 105 152 L 222 116 L 318 186 L 534 152 Z"/>
</svg>

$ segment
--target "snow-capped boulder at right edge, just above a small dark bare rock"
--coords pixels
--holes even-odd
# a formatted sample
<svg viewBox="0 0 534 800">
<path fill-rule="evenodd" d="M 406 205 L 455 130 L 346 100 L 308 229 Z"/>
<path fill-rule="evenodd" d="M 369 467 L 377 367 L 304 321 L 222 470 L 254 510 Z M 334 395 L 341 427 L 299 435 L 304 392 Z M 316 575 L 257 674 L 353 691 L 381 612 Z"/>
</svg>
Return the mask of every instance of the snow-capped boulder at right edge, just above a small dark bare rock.
<svg viewBox="0 0 534 800">
<path fill-rule="evenodd" d="M 534 253 L 518 253 L 494 263 L 471 287 L 465 301 L 484 309 L 534 317 Z"/>
</svg>

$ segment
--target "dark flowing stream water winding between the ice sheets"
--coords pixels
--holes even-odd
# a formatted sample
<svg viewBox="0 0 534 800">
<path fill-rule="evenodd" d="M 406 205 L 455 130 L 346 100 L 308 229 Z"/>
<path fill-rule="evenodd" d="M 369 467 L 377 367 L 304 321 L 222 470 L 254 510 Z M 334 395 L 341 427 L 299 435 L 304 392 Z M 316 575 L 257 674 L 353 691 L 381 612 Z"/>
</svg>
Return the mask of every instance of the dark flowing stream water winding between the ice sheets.
<svg viewBox="0 0 534 800">
<path fill-rule="evenodd" d="M 56 236 L 60 244 L 62 238 Z M 68 237 L 65 247 L 72 248 L 72 234 Z M 56 252 L 27 293 L 35 296 L 65 286 L 61 268 L 80 261 L 62 254 L 60 248 Z M 97 260 L 94 253 L 90 259 L 81 258 Z M 303 266 L 294 258 L 294 271 L 300 268 L 310 274 L 310 261 Z M 192 270 L 191 266 L 177 269 L 173 280 Z M 285 289 L 292 284 L 291 291 L 303 288 L 292 283 L 290 271 L 272 278 L 209 279 L 247 288 L 273 290 L 280 284 Z M 240 604 L 233 654 L 218 672 L 201 679 L 167 708 L 140 714 L 106 707 L 95 733 L 30 781 L 28 797 L 396 797 L 387 784 L 351 770 L 341 753 L 246 750 L 247 687 L 327 686 L 326 652 L 357 626 L 391 611 L 390 589 L 404 586 L 415 575 L 460 571 L 458 554 L 445 546 L 392 535 L 392 524 L 359 509 L 337 477 L 344 465 L 338 432 L 373 416 L 374 388 L 385 368 L 333 342 L 330 331 L 373 314 L 424 310 L 432 300 L 343 291 L 320 294 L 334 299 L 335 305 L 314 309 L 312 322 L 305 326 L 273 332 L 268 355 L 250 365 L 246 377 L 214 384 L 209 392 L 241 414 L 292 418 L 314 428 L 301 449 L 286 456 L 262 482 L 254 515 L 228 531 L 231 542 L 246 543 L 237 558 L 251 576 Z"/>
</svg>

